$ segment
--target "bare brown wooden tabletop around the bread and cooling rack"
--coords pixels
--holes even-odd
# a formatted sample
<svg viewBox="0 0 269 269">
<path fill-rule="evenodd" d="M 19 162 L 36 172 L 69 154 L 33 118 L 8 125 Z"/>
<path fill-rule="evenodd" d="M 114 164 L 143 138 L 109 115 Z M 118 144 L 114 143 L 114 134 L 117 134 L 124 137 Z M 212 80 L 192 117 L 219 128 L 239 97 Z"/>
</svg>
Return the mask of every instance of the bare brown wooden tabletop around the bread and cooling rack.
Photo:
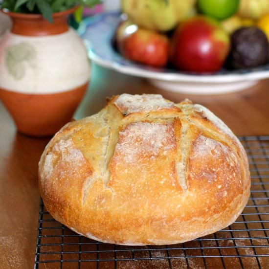
<svg viewBox="0 0 269 269">
<path fill-rule="evenodd" d="M 214 112 L 237 135 L 269 134 L 269 80 L 232 94 L 187 95 L 159 90 L 147 81 L 92 67 L 90 88 L 75 118 L 99 111 L 105 97 L 128 93 L 160 93 L 179 102 L 189 98 Z M 38 161 L 49 138 L 18 134 L 0 102 L 0 268 L 33 268 L 40 195 Z"/>
</svg>

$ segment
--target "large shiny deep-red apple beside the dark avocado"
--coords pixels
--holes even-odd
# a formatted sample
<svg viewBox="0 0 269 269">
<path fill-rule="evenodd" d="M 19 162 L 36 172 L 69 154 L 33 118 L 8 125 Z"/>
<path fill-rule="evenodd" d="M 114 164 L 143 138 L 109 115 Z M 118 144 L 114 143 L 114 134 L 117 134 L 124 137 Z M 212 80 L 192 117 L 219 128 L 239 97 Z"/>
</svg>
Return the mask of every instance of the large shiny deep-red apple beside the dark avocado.
<svg viewBox="0 0 269 269">
<path fill-rule="evenodd" d="M 194 16 L 176 29 L 171 42 L 171 62 L 185 71 L 215 72 L 224 65 L 229 47 L 229 36 L 217 21 Z"/>
</svg>

